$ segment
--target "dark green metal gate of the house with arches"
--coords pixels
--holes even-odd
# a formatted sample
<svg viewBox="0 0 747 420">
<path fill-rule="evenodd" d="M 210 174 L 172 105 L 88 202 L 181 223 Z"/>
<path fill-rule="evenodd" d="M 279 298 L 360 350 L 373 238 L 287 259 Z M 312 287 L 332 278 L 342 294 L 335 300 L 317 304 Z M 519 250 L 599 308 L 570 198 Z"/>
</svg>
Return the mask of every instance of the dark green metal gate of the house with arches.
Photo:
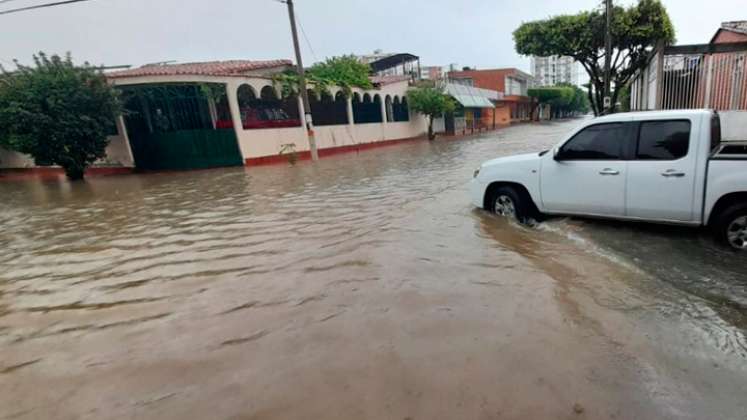
<svg viewBox="0 0 747 420">
<path fill-rule="evenodd" d="M 202 169 L 243 163 L 225 86 L 125 86 L 125 125 L 140 169 Z"/>
</svg>

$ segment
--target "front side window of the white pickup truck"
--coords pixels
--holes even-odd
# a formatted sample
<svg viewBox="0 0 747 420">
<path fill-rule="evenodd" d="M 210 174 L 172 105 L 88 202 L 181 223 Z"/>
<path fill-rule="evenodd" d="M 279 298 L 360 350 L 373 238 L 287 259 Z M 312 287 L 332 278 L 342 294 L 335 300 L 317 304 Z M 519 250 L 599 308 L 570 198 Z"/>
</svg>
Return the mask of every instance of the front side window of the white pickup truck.
<svg viewBox="0 0 747 420">
<path fill-rule="evenodd" d="M 560 149 L 561 160 L 620 160 L 628 130 L 623 123 L 584 128 Z"/>
</svg>

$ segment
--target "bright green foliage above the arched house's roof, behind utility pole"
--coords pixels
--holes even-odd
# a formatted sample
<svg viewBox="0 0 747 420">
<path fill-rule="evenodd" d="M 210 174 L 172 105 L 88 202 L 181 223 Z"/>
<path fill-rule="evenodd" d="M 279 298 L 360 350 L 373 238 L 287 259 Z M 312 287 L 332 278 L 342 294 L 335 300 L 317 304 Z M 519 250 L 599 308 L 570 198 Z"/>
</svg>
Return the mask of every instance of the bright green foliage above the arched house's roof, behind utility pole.
<svg viewBox="0 0 747 420">
<path fill-rule="evenodd" d="M 331 57 L 319 62 L 306 70 L 306 82 L 315 91 L 327 92 L 331 86 L 342 88 L 345 94 L 350 94 L 354 87 L 372 89 L 368 79 L 371 67 L 361 63 L 354 55 Z M 298 73 L 295 69 L 275 76 L 275 82 L 281 85 L 284 95 L 298 92 Z"/>
</svg>

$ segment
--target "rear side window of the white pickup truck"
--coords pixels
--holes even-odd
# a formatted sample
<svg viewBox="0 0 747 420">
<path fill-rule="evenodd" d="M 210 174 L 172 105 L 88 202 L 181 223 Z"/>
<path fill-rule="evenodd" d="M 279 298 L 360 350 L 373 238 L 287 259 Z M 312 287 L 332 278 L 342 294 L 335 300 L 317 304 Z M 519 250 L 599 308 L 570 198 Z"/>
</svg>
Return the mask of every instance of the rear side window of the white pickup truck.
<svg viewBox="0 0 747 420">
<path fill-rule="evenodd" d="M 676 160 L 690 148 L 690 121 L 645 121 L 638 135 L 636 159 Z"/>
</svg>

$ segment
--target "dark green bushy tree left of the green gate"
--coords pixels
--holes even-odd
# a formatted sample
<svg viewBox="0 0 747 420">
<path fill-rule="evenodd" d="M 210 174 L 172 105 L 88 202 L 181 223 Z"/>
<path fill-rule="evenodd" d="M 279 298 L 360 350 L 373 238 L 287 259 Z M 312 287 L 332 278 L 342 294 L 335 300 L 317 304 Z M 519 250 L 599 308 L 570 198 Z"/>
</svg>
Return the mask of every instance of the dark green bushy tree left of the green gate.
<svg viewBox="0 0 747 420">
<path fill-rule="evenodd" d="M 59 165 L 82 179 L 104 157 L 107 133 L 121 111 L 104 74 L 66 55 L 34 56 L 34 66 L 0 68 L 0 144 L 31 155 L 38 165 Z"/>
</svg>

